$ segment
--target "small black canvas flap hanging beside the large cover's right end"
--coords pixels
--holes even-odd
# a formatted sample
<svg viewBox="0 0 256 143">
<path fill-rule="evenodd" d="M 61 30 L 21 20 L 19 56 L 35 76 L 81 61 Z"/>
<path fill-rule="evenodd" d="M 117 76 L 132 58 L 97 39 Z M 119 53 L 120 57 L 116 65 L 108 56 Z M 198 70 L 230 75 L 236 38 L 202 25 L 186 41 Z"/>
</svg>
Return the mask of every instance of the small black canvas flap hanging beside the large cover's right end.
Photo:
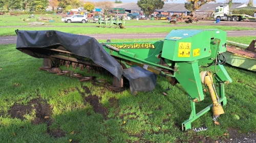
<svg viewBox="0 0 256 143">
<path fill-rule="evenodd" d="M 139 66 L 123 69 L 123 76 L 129 80 L 133 95 L 138 91 L 153 91 L 157 84 L 157 75 Z"/>
</svg>

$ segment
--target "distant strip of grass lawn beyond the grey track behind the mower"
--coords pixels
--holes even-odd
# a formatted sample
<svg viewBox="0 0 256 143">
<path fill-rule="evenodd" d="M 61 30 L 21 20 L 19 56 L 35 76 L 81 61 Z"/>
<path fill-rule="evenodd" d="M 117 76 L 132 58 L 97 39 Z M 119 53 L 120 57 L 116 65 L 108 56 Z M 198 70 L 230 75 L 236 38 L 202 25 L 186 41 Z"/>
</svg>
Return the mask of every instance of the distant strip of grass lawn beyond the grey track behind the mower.
<svg viewBox="0 0 256 143">
<path fill-rule="evenodd" d="M 222 25 L 199 25 L 200 22 L 193 24 L 177 23 L 177 26 L 170 24 L 167 20 L 126 20 L 125 29 L 119 28 L 102 28 L 97 27 L 98 23 L 65 23 L 61 21 L 59 15 L 43 15 L 47 17 L 53 17 L 55 22 L 39 21 L 44 22 L 45 25 L 29 25 L 31 22 L 38 22 L 37 18 L 41 15 L 35 15 L 34 18 L 29 18 L 30 21 L 22 21 L 23 18 L 28 18 L 29 15 L 20 16 L 2 16 L 0 20 L 0 36 L 16 36 L 15 30 L 56 30 L 61 32 L 67 32 L 72 34 L 115 34 L 115 33 L 167 33 L 174 29 L 206 29 L 206 28 L 217 28 L 220 30 L 254 30 L 255 28 L 241 27 L 241 26 L 222 26 Z M 147 25 L 153 25 L 155 27 Z"/>
</svg>

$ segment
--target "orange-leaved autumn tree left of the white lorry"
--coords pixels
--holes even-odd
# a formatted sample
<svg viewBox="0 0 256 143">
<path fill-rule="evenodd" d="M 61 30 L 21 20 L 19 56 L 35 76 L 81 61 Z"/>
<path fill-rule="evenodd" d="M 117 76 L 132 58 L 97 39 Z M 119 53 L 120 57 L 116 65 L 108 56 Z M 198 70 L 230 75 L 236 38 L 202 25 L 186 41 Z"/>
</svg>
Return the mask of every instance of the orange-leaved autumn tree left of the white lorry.
<svg viewBox="0 0 256 143">
<path fill-rule="evenodd" d="M 195 15 L 196 10 L 200 9 L 201 6 L 209 2 L 216 3 L 216 0 L 187 0 L 187 3 L 185 3 L 185 8 Z"/>
</svg>

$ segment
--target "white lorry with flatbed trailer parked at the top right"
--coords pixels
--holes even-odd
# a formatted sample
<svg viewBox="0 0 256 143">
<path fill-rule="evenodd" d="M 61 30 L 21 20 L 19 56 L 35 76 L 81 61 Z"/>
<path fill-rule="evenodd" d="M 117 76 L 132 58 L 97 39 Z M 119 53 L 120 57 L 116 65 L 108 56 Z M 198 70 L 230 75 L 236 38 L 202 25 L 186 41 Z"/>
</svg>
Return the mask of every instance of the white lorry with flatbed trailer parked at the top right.
<svg viewBox="0 0 256 143">
<path fill-rule="evenodd" d="M 215 19 L 227 21 L 256 20 L 255 17 L 246 14 L 230 14 L 228 5 L 220 5 L 215 9 Z"/>
</svg>

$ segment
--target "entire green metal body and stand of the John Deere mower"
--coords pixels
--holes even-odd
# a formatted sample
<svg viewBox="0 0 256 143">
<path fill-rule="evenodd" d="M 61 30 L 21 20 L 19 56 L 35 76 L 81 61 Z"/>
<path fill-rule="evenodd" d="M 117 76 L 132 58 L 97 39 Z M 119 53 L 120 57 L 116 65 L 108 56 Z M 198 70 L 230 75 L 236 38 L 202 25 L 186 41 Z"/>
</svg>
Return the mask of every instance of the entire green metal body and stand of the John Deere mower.
<svg viewBox="0 0 256 143">
<path fill-rule="evenodd" d="M 107 47 L 105 44 L 112 47 Z M 226 32 L 224 31 L 173 30 L 161 41 L 115 42 L 102 45 L 126 68 L 133 66 L 127 64 L 127 61 L 138 63 L 137 65 L 140 66 L 151 66 L 161 70 L 157 74 L 166 77 L 169 82 L 172 82 L 169 78 L 172 77 L 182 85 L 191 101 L 189 119 L 182 123 L 184 130 L 190 129 L 191 122 L 210 110 L 212 106 L 209 105 L 202 111 L 196 112 L 195 101 L 204 99 L 199 67 L 207 66 L 215 71 L 213 75 L 216 84 L 219 85 L 220 101 L 226 104 L 224 84 L 232 80 L 222 65 L 215 65 L 218 54 L 226 51 Z"/>
</svg>

